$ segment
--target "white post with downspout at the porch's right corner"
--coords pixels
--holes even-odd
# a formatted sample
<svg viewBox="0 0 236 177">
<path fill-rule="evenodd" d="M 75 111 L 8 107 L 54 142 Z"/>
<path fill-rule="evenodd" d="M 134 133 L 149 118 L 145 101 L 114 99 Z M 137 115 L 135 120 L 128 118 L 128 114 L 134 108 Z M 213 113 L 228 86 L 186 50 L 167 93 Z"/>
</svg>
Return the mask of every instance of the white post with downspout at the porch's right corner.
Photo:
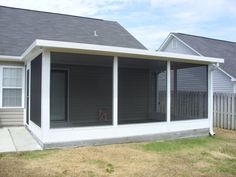
<svg viewBox="0 0 236 177">
<path fill-rule="evenodd" d="M 208 120 L 209 120 L 209 133 L 215 135 L 213 131 L 213 70 L 212 64 L 208 65 Z"/>
</svg>

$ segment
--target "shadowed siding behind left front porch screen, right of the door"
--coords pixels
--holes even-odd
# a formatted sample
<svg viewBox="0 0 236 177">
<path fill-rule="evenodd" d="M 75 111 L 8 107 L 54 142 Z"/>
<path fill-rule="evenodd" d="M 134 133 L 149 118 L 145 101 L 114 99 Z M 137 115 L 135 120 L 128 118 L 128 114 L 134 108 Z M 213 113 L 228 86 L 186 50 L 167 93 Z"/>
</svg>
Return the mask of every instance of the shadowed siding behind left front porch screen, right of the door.
<svg viewBox="0 0 236 177">
<path fill-rule="evenodd" d="M 52 64 L 68 71 L 68 120 L 89 123 L 99 120 L 99 110 L 112 120 L 112 67 Z"/>
</svg>

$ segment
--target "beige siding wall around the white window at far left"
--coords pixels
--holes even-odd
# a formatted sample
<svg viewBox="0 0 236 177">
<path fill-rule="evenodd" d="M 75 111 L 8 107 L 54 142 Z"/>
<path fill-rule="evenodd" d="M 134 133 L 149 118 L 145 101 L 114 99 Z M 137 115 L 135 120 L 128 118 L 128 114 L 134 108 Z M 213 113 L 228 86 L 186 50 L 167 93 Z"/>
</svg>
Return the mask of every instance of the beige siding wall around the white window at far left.
<svg viewBox="0 0 236 177">
<path fill-rule="evenodd" d="M 24 64 L 22 62 L 0 61 L 0 66 L 13 66 L 13 67 L 22 66 L 23 67 Z M 0 78 L 0 80 L 2 80 L 2 77 Z M 22 99 L 24 98 L 22 97 Z M 0 108 L 0 127 L 23 126 L 23 119 L 24 119 L 23 108 Z"/>
</svg>

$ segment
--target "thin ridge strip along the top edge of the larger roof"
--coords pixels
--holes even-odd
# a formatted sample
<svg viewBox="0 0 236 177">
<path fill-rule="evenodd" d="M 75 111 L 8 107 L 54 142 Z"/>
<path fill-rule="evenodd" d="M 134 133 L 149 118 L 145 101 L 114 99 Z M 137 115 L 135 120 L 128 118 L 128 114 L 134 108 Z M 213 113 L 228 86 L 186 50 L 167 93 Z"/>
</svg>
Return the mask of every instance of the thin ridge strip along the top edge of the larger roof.
<svg viewBox="0 0 236 177">
<path fill-rule="evenodd" d="M 63 13 L 57 13 L 57 12 L 48 12 L 48 11 L 41 11 L 41 10 L 33 10 L 33 9 L 25 9 L 25 8 L 19 8 L 19 7 L 11 7 L 11 6 L 3 6 L 3 5 L 0 5 L 0 7 L 8 8 L 8 9 L 17 9 L 17 10 L 22 10 L 22 11 L 31 11 L 31 12 L 47 13 L 47 14 L 52 14 L 52 15 L 62 15 L 62 16 L 70 16 L 70 17 L 77 17 L 77 18 L 85 18 L 85 19 L 89 19 L 89 20 L 110 21 L 110 20 L 104 20 L 104 19 L 99 19 L 99 18 L 84 17 L 84 16 L 63 14 Z M 115 22 L 115 21 L 112 21 L 112 22 Z"/>
</svg>

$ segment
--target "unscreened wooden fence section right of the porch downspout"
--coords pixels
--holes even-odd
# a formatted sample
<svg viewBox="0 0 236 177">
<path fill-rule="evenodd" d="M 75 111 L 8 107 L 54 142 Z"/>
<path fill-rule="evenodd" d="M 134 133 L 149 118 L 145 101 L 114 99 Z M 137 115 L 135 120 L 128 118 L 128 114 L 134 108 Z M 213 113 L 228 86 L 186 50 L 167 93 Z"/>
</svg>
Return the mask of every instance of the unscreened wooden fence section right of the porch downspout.
<svg viewBox="0 0 236 177">
<path fill-rule="evenodd" d="M 236 94 L 214 93 L 214 127 L 236 130 Z"/>
</svg>

